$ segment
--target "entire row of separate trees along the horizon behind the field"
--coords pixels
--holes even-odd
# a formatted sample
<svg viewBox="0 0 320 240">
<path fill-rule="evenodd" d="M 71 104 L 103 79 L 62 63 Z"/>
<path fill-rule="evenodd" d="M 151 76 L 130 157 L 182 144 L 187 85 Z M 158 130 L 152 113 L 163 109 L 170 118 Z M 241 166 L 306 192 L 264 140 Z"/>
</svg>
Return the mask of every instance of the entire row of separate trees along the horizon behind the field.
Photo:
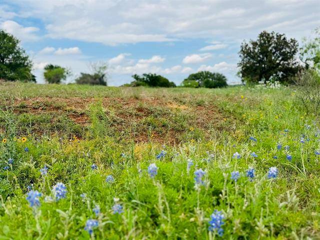
<svg viewBox="0 0 320 240">
<path fill-rule="evenodd" d="M 294 38 L 284 34 L 262 31 L 256 40 L 243 41 L 240 46 L 238 76 L 247 84 L 278 81 L 294 84 L 294 77 L 303 70 L 312 70 L 320 75 L 320 30 L 317 37 L 303 40 L 298 48 Z M 299 59 L 299 60 L 298 60 Z M 6 81 L 31 81 L 32 61 L 19 46 L 19 40 L 0 30 L 0 79 Z M 71 74 L 70 70 L 48 64 L 44 67 L 44 79 L 47 83 L 60 83 Z M 133 81 L 125 86 L 175 87 L 175 83 L 155 73 L 132 75 Z M 78 84 L 107 85 L 107 64 L 98 62 L 90 65 L 90 72 L 81 72 L 75 79 Z M 185 78 L 184 87 L 225 87 L 226 77 L 218 72 L 199 71 Z"/>
</svg>

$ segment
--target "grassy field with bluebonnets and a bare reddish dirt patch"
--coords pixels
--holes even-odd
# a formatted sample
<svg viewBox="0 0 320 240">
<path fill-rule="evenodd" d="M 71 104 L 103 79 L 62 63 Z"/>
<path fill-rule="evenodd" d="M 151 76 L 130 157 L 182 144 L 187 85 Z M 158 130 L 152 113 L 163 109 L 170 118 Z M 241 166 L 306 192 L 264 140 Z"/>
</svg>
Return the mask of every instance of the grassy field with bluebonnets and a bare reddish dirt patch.
<svg viewBox="0 0 320 240">
<path fill-rule="evenodd" d="M 0 239 L 320 239 L 319 121 L 292 88 L 0 97 Z"/>
</svg>

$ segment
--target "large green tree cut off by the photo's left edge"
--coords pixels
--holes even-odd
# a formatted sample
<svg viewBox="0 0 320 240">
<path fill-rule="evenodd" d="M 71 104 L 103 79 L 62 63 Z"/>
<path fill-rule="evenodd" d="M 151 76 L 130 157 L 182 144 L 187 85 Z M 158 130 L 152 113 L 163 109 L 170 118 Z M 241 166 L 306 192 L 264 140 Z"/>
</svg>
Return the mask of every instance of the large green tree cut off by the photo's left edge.
<svg viewBox="0 0 320 240">
<path fill-rule="evenodd" d="M 7 81 L 34 81 L 32 62 L 19 40 L 0 29 L 0 79 Z"/>
</svg>

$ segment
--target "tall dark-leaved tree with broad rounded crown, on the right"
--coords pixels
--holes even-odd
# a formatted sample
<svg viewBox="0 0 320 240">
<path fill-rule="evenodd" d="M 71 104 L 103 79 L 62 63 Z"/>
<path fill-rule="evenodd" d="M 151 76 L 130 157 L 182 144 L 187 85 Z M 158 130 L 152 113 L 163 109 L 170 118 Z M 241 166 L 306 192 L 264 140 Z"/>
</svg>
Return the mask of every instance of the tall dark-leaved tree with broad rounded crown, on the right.
<svg viewBox="0 0 320 240">
<path fill-rule="evenodd" d="M 262 31 L 256 40 L 241 44 L 239 75 L 246 82 L 288 82 L 299 70 L 297 51 L 298 43 L 294 38 Z"/>
</svg>

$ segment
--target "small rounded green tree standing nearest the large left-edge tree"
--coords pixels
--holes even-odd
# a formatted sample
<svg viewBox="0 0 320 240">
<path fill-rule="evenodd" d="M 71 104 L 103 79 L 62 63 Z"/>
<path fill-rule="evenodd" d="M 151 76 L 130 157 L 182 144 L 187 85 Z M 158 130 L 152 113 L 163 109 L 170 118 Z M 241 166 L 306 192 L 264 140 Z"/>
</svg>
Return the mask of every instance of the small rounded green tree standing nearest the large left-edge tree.
<svg viewBox="0 0 320 240">
<path fill-rule="evenodd" d="M 52 64 L 46 65 L 43 72 L 46 82 L 57 84 L 59 84 L 61 80 L 65 80 L 69 74 L 70 71 L 67 68 Z"/>
</svg>

